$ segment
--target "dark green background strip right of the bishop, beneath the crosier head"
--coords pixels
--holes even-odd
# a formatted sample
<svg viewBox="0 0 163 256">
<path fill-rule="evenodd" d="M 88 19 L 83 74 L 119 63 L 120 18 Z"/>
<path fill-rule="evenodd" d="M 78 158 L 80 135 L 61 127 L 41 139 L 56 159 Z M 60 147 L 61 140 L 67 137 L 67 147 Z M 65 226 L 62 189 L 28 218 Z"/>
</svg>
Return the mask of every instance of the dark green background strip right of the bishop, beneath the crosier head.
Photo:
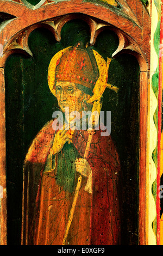
<svg viewBox="0 0 163 256">
<path fill-rule="evenodd" d="M 105 104 L 112 109 L 111 135 L 123 174 L 122 243 L 135 245 L 139 206 L 139 65 L 134 56 L 125 54 L 112 60 L 109 81 L 120 88 L 117 97 L 106 91 L 104 97 Z"/>
</svg>

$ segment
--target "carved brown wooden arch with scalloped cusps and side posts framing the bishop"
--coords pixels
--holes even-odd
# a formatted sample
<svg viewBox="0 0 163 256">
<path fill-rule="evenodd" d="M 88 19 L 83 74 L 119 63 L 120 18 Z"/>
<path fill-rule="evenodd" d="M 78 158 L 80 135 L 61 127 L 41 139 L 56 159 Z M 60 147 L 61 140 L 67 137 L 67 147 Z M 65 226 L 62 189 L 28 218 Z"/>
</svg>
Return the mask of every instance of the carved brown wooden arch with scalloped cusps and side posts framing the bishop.
<svg viewBox="0 0 163 256">
<path fill-rule="evenodd" d="M 43 2 L 43 1 L 41 1 Z M 4 67 L 10 54 L 23 52 L 32 55 L 28 47 L 29 34 L 38 27 L 46 27 L 53 32 L 55 39 L 60 41 L 61 28 L 72 19 L 82 19 L 88 23 L 91 31 L 90 44 L 95 44 L 97 35 L 104 29 L 116 32 L 119 46 L 112 54 L 127 52 L 133 54 L 140 65 L 140 161 L 139 161 L 139 244 L 146 244 L 146 147 L 147 147 L 147 113 L 148 113 L 148 77 L 150 69 L 150 29 L 151 20 L 145 6 L 140 0 L 117 1 L 121 9 L 111 5 L 94 4 L 91 2 L 73 1 L 52 2 L 44 1 L 40 7 L 25 5 L 26 1 L 0 0 L 0 9 L 14 18 L 4 23 L 0 31 L 0 43 L 3 54 L 0 54 L 1 88 L 1 180 L 6 188 L 5 170 L 5 83 Z M 135 7 L 135 2 L 137 7 Z M 143 20 L 143 22 L 142 22 Z M 7 243 L 7 195 L 4 189 L 1 203 L 1 244 Z"/>
</svg>

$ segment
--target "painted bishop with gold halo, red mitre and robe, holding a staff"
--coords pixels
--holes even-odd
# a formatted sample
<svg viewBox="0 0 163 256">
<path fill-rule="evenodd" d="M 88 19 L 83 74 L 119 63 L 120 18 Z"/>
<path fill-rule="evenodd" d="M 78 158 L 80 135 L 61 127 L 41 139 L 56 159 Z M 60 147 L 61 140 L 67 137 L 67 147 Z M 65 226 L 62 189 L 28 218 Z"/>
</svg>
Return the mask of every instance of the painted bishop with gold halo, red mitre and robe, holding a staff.
<svg viewBox="0 0 163 256">
<path fill-rule="evenodd" d="M 81 42 L 52 58 L 48 84 L 64 116 L 48 121 L 24 162 L 22 245 L 119 245 L 120 160 L 101 129 L 71 129 L 70 112 L 101 111 L 110 64 Z M 110 89 L 114 89 L 111 88 Z M 67 128 L 68 127 L 68 128 Z M 70 128 L 70 129 L 69 129 Z"/>
</svg>

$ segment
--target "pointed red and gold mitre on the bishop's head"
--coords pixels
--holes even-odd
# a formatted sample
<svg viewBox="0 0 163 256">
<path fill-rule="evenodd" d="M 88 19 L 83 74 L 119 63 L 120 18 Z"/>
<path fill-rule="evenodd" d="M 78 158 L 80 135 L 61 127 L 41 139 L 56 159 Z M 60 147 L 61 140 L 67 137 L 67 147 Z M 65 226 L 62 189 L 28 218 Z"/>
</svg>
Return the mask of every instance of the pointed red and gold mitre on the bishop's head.
<svg viewBox="0 0 163 256">
<path fill-rule="evenodd" d="M 82 42 L 71 47 L 58 59 L 55 81 L 74 82 L 91 92 L 99 77 L 98 66 L 92 50 L 85 48 Z"/>
</svg>

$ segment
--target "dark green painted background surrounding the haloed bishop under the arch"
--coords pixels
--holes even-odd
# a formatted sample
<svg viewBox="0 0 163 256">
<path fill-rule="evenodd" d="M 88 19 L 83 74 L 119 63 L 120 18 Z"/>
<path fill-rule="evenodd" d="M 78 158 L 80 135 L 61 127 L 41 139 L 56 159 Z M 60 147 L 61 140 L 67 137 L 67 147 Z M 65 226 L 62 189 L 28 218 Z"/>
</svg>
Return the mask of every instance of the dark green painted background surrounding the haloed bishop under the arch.
<svg viewBox="0 0 163 256">
<path fill-rule="evenodd" d="M 47 70 L 51 58 L 77 41 L 90 40 L 90 29 L 80 20 L 62 28 L 61 42 L 44 28 L 29 36 L 33 57 L 13 54 L 5 66 L 7 127 L 8 244 L 21 243 L 23 161 L 30 143 L 45 123 L 52 119 L 57 100 L 49 90 Z M 102 56 L 111 57 L 118 46 L 114 32 L 104 31 L 92 46 Z M 111 111 L 111 136 L 121 160 L 123 176 L 122 244 L 135 245 L 138 239 L 138 145 L 139 145 L 139 65 L 131 55 L 112 60 L 108 82 L 119 87 L 118 94 L 106 89 L 104 111 Z"/>
</svg>

